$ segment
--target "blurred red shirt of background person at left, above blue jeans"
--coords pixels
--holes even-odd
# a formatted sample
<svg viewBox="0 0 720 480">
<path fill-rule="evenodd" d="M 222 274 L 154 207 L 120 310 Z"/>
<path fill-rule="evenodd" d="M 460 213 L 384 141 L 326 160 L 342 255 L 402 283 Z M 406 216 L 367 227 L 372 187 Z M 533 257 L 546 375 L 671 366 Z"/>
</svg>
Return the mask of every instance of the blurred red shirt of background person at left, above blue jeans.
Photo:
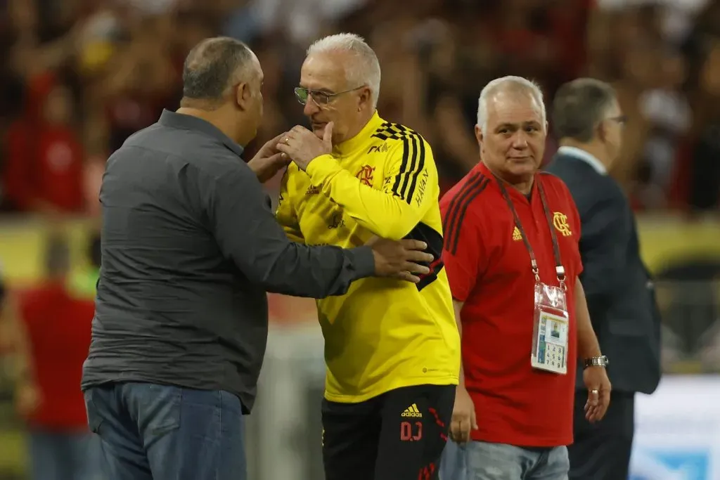
<svg viewBox="0 0 720 480">
<path fill-rule="evenodd" d="M 46 284 L 20 294 L 19 314 L 27 329 L 41 399 L 27 419 L 32 425 L 86 430 L 80 380 L 94 312 L 94 302 L 73 298 L 63 284 Z"/>
</svg>

